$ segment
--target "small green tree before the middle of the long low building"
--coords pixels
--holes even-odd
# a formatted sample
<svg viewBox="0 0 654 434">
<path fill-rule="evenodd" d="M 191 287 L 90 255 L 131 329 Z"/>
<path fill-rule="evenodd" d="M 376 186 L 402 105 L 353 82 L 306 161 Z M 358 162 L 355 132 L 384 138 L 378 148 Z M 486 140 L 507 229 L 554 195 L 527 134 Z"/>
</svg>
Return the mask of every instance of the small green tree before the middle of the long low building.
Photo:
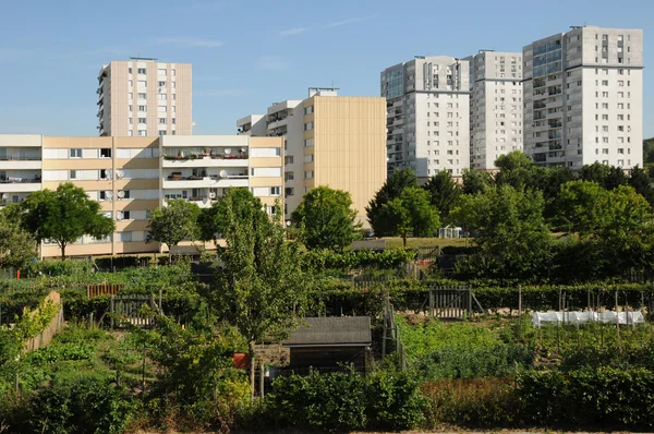
<svg viewBox="0 0 654 434">
<path fill-rule="evenodd" d="M 194 203 L 183 198 L 168 201 L 167 206 L 153 212 L 148 241 L 158 241 L 172 249 L 183 240 L 196 240 L 198 215 L 199 207 Z"/>
</svg>

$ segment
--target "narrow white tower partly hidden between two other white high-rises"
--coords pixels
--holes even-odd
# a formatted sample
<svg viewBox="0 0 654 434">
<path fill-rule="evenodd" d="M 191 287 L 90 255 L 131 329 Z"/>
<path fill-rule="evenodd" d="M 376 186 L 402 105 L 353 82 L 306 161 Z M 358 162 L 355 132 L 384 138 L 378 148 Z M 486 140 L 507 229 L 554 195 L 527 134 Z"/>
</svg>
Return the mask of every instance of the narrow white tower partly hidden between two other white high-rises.
<svg viewBox="0 0 654 434">
<path fill-rule="evenodd" d="M 480 50 L 470 63 L 470 167 L 522 150 L 522 53 Z"/>
</svg>

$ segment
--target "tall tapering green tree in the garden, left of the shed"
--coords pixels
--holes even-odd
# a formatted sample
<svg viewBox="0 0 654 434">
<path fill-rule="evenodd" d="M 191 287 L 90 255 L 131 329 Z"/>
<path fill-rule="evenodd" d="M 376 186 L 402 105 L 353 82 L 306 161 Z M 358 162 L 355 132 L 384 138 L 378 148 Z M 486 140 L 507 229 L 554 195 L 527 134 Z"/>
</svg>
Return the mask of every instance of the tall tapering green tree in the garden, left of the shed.
<svg viewBox="0 0 654 434">
<path fill-rule="evenodd" d="M 218 248 L 221 266 L 211 299 L 220 316 L 249 342 L 254 397 L 255 343 L 283 338 L 299 324 L 311 278 L 300 266 L 298 243 L 287 241 L 279 218 L 271 221 L 265 214 L 262 218 L 261 208 L 252 208 L 254 197 L 238 201 L 228 194 L 222 201 L 227 245 Z"/>
</svg>

